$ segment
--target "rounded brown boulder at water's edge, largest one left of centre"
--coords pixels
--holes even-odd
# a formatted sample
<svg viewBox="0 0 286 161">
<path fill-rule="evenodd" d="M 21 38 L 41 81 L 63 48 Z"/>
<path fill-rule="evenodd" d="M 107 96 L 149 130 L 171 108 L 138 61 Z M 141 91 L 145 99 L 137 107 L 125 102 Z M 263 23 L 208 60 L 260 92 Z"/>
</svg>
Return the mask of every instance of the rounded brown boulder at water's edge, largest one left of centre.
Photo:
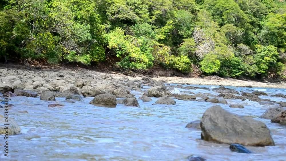
<svg viewBox="0 0 286 161">
<path fill-rule="evenodd" d="M 94 97 L 90 104 L 97 106 L 115 107 L 116 106 L 116 96 L 112 94 L 100 94 Z"/>
</svg>

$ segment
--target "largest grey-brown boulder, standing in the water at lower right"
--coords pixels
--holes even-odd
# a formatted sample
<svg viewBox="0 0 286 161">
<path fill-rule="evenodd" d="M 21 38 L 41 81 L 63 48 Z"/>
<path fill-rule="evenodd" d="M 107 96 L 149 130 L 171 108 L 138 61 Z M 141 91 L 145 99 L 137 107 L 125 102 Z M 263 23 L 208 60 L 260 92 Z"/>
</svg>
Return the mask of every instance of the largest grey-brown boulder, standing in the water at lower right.
<svg viewBox="0 0 286 161">
<path fill-rule="evenodd" d="M 201 138 L 218 143 L 245 146 L 274 146 L 270 130 L 260 121 L 232 114 L 220 106 L 212 106 L 202 116 Z"/>
</svg>

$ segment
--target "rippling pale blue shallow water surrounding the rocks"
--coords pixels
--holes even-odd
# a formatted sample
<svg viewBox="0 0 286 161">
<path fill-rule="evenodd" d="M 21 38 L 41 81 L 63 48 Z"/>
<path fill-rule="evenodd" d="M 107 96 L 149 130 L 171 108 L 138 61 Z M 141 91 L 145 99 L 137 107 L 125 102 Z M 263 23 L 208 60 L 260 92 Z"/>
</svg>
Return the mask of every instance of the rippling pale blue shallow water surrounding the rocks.
<svg viewBox="0 0 286 161">
<path fill-rule="evenodd" d="M 276 88 L 229 88 L 245 92 L 259 90 L 269 95 L 286 94 L 285 89 Z M 212 90 L 176 89 L 181 93 L 217 94 Z M 140 92 L 133 94 L 140 97 Z M 286 102 L 278 97 L 260 97 Z M 9 110 L 9 116 L 18 122 L 22 133 L 9 137 L 9 159 L 1 150 L 0 160 L 181 161 L 192 154 L 207 160 L 286 160 L 286 126 L 259 119 L 269 106 L 257 102 L 227 100 L 229 104 L 243 104 L 245 108 L 242 109 L 219 104 L 230 112 L 264 122 L 273 134 L 275 146 L 247 147 L 253 154 L 242 154 L 231 152 L 227 144 L 200 140 L 200 130 L 185 128 L 188 122 L 200 119 L 207 108 L 215 105 L 213 103 L 176 100 L 176 105 L 152 105 L 157 100 L 152 98 L 151 102 L 138 100 L 140 108 L 122 104 L 116 108 L 103 108 L 88 104 L 92 98 L 74 104 L 64 102 L 65 98 L 56 99 L 55 102 L 65 106 L 48 108 L 48 104 L 55 102 L 11 98 L 10 103 L 15 106 Z M 0 144 L 3 143 L 1 137 Z"/>
</svg>

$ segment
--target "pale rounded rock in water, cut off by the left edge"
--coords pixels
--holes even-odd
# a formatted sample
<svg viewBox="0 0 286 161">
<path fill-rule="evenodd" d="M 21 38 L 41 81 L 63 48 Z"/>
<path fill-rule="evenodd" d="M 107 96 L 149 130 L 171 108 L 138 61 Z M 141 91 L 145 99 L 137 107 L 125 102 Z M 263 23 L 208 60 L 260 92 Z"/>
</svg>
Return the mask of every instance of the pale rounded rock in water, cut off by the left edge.
<svg viewBox="0 0 286 161">
<path fill-rule="evenodd" d="M 21 128 L 19 127 L 17 122 L 11 117 L 9 117 L 8 120 L 9 122 L 5 122 L 5 117 L 3 115 L 0 115 L 0 134 L 6 135 L 5 126 L 9 126 L 7 132 L 8 135 L 19 134 L 21 132 Z M 4 125 L 7 123 L 9 123 L 9 125 Z"/>
</svg>

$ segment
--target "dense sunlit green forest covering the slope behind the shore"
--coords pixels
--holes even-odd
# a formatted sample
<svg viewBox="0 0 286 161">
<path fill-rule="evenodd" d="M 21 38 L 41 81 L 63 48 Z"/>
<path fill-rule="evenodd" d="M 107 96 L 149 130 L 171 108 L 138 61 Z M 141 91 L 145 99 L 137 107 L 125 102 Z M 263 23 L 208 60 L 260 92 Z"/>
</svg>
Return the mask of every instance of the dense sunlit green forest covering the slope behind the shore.
<svg viewBox="0 0 286 161">
<path fill-rule="evenodd" d="M 284 0 L 1 0 L 0 54 L 285 77 Z"/>
</svg>

